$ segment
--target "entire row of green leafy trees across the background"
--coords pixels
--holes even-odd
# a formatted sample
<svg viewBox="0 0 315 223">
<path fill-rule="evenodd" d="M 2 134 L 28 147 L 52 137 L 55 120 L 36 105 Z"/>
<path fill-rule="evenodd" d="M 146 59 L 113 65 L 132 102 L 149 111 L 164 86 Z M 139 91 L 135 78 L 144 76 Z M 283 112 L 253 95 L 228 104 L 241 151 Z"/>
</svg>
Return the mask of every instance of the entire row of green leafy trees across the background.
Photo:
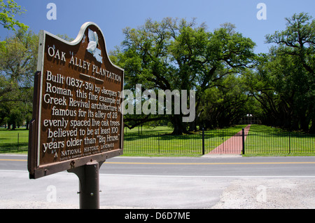
<svg viewBox="0 0 315 223">
<path fill-rule="evenodd" d="M 0 3 L 3 12 L 8 6 Z M 110 53 L 125 69 L 125 89 L 139 83 L 143 91 L 196 90 L 192 123 L 183 123 L 183 115 L 127 114 L 125 125 L 169 123 L 183 134 L 252 114 L 269 126 L 315 133 L 315 20 L 300 13 L 286 21 L 286 29 L 266 36 L 273 46 L 265 54 L 253 53 L 255 43 L 230 23 L 213 32 L 195 19 L 174 18 L 125 28 L 125 40 Z M 38 49 L 38 36 L 16 22 L 0 16 L 3 27 L 19 27 L 0 42 L 0 124 L 12 128 L 31 119 Z"/>
</svg>

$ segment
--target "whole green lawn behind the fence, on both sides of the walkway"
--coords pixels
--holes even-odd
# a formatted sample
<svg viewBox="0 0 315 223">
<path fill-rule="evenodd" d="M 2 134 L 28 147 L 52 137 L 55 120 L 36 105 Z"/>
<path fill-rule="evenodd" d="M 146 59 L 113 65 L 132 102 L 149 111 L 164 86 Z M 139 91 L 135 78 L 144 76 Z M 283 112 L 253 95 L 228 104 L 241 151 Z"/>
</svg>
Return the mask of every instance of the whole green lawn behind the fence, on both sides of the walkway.
<svg viewBox="0 0 315 223">
<path fill-rule="evenodd" d="M 246 126 L 204 131 L 207 154 Z M 171 135 L 172 128 L 124 129 L 124 156 L 202 156 L 202 131 Z M 27 154 L 28 130 L 0 128 L 0 153 Z M 245 142 L 245 156 L 314 156 L 315 135 L 252 125 Z"/>
</svg>

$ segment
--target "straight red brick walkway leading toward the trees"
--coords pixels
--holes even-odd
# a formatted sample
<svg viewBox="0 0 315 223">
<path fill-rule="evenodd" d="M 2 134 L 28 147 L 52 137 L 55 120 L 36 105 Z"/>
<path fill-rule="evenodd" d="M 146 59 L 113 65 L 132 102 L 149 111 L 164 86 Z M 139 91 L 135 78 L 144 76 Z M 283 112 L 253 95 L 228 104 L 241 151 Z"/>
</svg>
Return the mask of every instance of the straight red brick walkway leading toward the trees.
<svg viewBox="0 0 315 223">
<path fill-rule="evenodd" d="M 251 128 L 251 125 L 248 125 L 246 128 L 244 128 L 245 140 L 249 128 Z M 242 131 L 239 131 L 239 133 L 230 137 L 230 139 L 223 142 L 223 144 L 216 147 L 216 149 L 212 150 L 209 154 L 241 154 L 241 150 L 243 148 L 241 132 Z"/>
</svg>

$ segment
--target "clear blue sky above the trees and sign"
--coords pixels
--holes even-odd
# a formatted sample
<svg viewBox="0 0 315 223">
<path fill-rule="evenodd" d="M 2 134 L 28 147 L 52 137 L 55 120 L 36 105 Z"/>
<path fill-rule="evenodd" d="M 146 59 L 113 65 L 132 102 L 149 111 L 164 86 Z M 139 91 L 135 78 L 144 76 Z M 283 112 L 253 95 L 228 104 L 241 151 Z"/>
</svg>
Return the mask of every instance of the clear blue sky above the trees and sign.
<svg viewBox="0 0 315 223">
<path fill-rule="evenodd" d="M 284 18 L 306 12 L 315 18 L 314 0 L 15 0 L 27 12 L 16 16 L 36 34 L 45 29 L 52 34 L 67 34 L 75 39 L 84 22 L 95 22 L 102 29 L 108 50 L 123 41 L 125 27 L 137 28 L 147 18 L 197 18 L 205 22 L 209 31 L 225 22 L 236 25 L 237 32 L 251 38 L 256 44 L 255 53 L 267 53 L 265 35 L 286 27 Z M 57 6 L 57 20 L 48 20 L 48 3 Z M 267 20 L 258 20 L 259 3 L 267 6 Z M 0 27 L 0 39 L 12 35 Z"/>
</svg>

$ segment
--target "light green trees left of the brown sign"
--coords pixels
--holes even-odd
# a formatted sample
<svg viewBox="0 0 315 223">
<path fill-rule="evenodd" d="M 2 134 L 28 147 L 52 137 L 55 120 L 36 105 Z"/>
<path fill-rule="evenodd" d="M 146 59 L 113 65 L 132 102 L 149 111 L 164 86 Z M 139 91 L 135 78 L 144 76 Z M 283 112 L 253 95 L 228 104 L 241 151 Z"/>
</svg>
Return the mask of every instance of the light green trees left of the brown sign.
<svg viewBox="0 0 315 223">
<path fill-rule="evenodd" d="M 9 129 L 29 122 L 32 112 L 38 36 L 15 20 L 22 13 L 25 9 L 14 1 L 0 0 L 0 25 L 15 31 L 13 37 L 0 41 L 0 124 Z"/>
</svg>

